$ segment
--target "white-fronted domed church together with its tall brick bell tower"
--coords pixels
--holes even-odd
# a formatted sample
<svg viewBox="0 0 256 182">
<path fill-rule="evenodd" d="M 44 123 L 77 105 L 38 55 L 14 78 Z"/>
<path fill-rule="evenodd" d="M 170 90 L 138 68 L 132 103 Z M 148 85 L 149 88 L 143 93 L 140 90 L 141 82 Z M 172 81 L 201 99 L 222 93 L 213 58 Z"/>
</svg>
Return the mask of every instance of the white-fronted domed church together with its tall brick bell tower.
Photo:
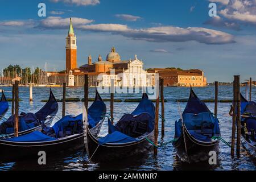
<svg viewBox="0 0 256 182">
<path fill-rule="evenodd" d="M 114 79 L 115 86 L 152 86 L 154 85 L 155 73 L 147 73 L 143 69 L 143 61 L 134 56 L 134 59 L 121 60 L 121 56 L 114 47 L 106 56 L 101 55 L 92 61 L 88 56 L 87 64 L 77 67 L 77 40 L 70 19 L 68 35 L 66 37 L 66 72 L 59 73 L 63 82 L 68 81 L 68 86 L 82 86 L 84 75 L 89 75 L 89 86 L 110 86 L 110 80 Z M 67 76 L 67 75 L 68 76 Z M 59 78 L 60 79 L 60 78 Z"/>
</svg>

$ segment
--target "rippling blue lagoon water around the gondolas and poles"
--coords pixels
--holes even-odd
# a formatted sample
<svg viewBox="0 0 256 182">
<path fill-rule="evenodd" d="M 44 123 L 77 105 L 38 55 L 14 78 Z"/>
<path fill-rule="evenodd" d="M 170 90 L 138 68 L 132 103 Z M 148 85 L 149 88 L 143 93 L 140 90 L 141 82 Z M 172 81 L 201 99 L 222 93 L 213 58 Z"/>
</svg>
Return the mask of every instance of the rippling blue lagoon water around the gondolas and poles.
<svg viewBox="0 0 256 182">
<path fill-rule="evenodd" d="M 7 98 L 11 98 L 11 88 L 3 88 Z M 62 97 L 62 88 L 52 88 L 56 98 Z M 194 88 L 195 93 L 200 99 L 214 99 L 214 86 L 205 88 Z M 241 92 L 245 95 L 245 88 L 241 88 Z M 67 88 L 67 98 L 83 97 L 83 88 Z M 94 98 L 95 89 L 89 89 L 89 97 Z M 39 110 L 45 103 L 40 100 L 46 100 L 49 95 L 49 88 L 34 88 L 34 102 L 29 102 L 29 88 L 20 87 L 19 97 L 23 100 L 20 102 L 19 111 L 35 112 Z M 102 98 L 110 98 L 109 94 L 102 94 Z M 141 94 L 115 94 L 115 98 L 125 100 L 126 98 L 140 98 Z M 189 88 L 164 88 L 164 97 L 167 99 L 165 104 L 166 110 L 166 128 L 165 137 L 161 138 L 159 125 L 159 142 L 168 142 L 174 137 L 174 123 L 179 119 L 179 110 L 177 109 L 177 99 L 187 99 L 189 97 Z M 232 99 L 233 86 L 219 86 L 219 99 Z M 253 100 L 256 100 L 256 88 L 252 92 Z M 105 102 L 108 112 L 110 112 L 110 102 Z M 89 105 L 91 102 L 89 102 Z M 185 107 L 185 102 L 181 102 L 181 110 Z M 67 102 L 66 114 L 77 115 L 81 113 L 82 102 Z M 115 102 L 114 103 L 114 121 L 122 117 L 125 113 L 130 113 L 138 105 L 138 102 Z M 222 138 L 230 142 L 232 117 L 229 116 L 231 103 L 218 104 L 218 119 L 220 120 L 220 129 Z M 214 103 L 207 103 L 211 111 L 214 111 Z M 61 117 L 62 105 L 59 102 L 58 117 Z M 6 118 L 10 116 L 11 103 Z M 55 123 L 57 118 L 53 121 Z M 52 123 L 52 125 L 53 125 Z M 161 123 L 161 122 L 159 122 Z M 105 120 L 100 136 L 104 136 L 108 131 L 108 125 Z M 18 151 L 17 151 L 18 152 Z M 1 154 L 1 148 L 0 148 Z M 148 153 L 133 156 L 131 158 L 118 160 L 111 163 L 91 164 L 88 162 L 84 152 L 77 151 L 73 153 L 58 154 L 47 158 L 47 164 L 40 166 L 36 159 L 13 162 L 0 163 L 0 170 L 255 170 L 256 159 L 250 155 L 245 147 L 241 147 L 241 158 L 232 159 L 230 157 L 230 148 L 226 144 L 220 142 L 220 150 L 218 153 L 217 165 L 210 166 L 208 163 L 185 164 L 180 162 L 175 154 L 172 144 L 159 148 L 158 156 L 154 156 L 152 151 Z"/>
</svg>

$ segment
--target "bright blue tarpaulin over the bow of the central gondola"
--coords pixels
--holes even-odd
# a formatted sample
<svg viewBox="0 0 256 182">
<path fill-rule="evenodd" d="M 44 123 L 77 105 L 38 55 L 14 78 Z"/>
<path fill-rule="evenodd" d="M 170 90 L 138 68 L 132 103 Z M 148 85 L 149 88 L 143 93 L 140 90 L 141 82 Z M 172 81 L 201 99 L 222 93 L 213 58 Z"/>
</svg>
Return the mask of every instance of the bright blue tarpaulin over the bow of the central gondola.
<svg viewBox="0 0 256 182">
<path fill-rule="evenodd" d="M 112 134 L 106 135 L 106 137 L 98 139 L 99 144 L 105 143 L 127 143 L 127 142 L 135 142 L 137 139 L 129 137 L 119 131 L 114 131 Z"/>
</svg>

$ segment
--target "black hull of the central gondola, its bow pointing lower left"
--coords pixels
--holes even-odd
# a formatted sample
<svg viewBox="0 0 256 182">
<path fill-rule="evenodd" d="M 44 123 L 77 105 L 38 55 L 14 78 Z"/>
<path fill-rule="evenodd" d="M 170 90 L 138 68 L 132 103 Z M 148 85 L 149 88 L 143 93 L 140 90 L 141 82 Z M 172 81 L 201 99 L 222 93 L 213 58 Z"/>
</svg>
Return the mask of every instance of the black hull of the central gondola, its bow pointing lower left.
<svg viewBox="0 0 256 182">
<path fill-rule="evenodd" d="M 154 131 L 147 135 L 150 140 L 154 139 Z M 128 158 L 132 155 L 142 154 L 147 152 L 152 145 L 143 138 L 138 142 L 125 143 L 125 144 L 104 144 L 99 145 L 97 138 L 93 137 L 92 133 L 86 134 L 86 147 L 88 152 L 88 158 L 90 162 L 100 163 L 109 162 L 112 160 L 118 160 Z"/>
</svg>

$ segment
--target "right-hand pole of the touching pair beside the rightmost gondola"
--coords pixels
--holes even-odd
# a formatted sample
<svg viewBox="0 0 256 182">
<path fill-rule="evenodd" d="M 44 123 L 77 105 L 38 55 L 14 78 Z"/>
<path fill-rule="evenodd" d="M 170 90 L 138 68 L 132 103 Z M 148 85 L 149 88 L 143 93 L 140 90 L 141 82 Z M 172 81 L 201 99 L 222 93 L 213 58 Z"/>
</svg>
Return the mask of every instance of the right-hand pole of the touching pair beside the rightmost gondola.
<svg viewBox="0 0 256 182">
<path fill-rule="evenodd" d="M 240 157 L 241 146 L 241 96 L 240 96 L 240 76 L 237 76 L 237 157 Z"/>
</svg>

